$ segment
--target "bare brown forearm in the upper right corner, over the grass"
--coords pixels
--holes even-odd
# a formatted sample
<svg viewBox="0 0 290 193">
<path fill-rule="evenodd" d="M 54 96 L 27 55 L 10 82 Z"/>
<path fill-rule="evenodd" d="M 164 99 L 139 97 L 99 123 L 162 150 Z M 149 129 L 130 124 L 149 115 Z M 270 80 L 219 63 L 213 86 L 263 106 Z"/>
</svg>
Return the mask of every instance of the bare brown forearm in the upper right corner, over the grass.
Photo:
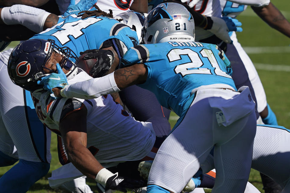
<svg viewBox="0 0 290 193">
<path fill-rule="evenodd" d="M 265 7 L 253 7 L 261 19 L 269 26 L 290 37 L 290 23 L 272 3 Z"/>
</svg>

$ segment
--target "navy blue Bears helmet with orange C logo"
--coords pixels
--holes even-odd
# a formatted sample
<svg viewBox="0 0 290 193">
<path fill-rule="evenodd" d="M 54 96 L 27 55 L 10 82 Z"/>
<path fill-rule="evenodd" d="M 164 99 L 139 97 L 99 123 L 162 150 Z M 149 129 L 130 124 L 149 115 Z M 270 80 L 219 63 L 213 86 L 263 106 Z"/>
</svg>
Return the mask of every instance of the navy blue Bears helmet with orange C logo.
<svg viewBox="0 0 290 193">
<path fill-rule="evenodd" d="M 67 77 L 76 72 L 79 59 L 71 49 L 57 46 L 54 40 L 31 39 L 18 44 L 10 54 L 7 65 L 12 82 L 31 92 L 41 89 L 42 85 L 37 85 L 37 81 L 48 75 L 43 68 L 53 51 L 63 55 L 60 66 L 70 70 Z"/>
</svg>

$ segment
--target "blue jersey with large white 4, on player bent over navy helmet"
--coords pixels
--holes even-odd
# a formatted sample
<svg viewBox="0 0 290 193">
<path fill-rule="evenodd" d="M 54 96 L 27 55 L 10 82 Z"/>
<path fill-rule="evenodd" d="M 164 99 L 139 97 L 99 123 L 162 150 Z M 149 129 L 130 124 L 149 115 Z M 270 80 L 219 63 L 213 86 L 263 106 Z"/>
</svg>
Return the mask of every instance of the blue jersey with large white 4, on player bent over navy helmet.
<svg viewBox="0 0 290 193">
<path fill-rule="evenodd" d="M 60 47 L 67 46 L 79 55 L 87 49 L 99 49 L 108 39 L 118 39 L 129 49 L 138 45 L 136 31 L 110 17 L 81 19 L 76 14 L 60 17 L 58 24 L 30 39 L 52 39 Z M 72 62 L 75 62 L 72 60 Z"/>
</svg>

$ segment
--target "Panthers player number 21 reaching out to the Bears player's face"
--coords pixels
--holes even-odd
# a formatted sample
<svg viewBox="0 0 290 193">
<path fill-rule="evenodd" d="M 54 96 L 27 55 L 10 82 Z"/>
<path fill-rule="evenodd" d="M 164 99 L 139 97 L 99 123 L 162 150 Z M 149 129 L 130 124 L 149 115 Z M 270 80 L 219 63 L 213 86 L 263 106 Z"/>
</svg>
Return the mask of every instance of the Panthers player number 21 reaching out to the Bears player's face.
<svg viewBox="0 0 290 193">
<path fill-rule="evenodd" d="M 177 16 L 181 17 L 177 20 L 178 32 L 173 19 Z M 59 83 L 52 83 L 51 78 L 59 77 L 57 74 L 50 74 L 41 83 L 53 89 L 56 97 L 85 99 L 134 84 L 151 90 L 180 119 L 156 154 L 147 191 L 180 192 L 215 147 L 218 166 L 213 192 L 243 192 L 256 130 L 255 104 L 249 89 L 243 87 L 241 93 L 237 92 L 223 51 L 215 45 L 193 42 L 194 22 L 182 5 L 160 4 L 147 16 L 144 26 L 145 43 L 158 44 L 129 49 L 121 60 L 124 68 L 62 89 Z M 232 108 L 240 111 L 233 113 L 229 110 Z M 234 153 L 237 150 L 238 155 Z M 236 172 L 241 173 L 239 179 L 233 179 Z"/>
</svg>

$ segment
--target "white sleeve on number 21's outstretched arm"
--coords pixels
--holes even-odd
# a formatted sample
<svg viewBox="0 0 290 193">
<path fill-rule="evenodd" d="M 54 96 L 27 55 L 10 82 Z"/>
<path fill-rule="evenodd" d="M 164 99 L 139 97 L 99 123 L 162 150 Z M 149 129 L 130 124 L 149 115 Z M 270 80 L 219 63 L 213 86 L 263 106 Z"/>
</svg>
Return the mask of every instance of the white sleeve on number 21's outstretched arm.
<svg viewBox="0 0 290 193">
<path fill-rule="evenodd" d="M 69 84 L 60 91 L 60 95 L 67 98 L 94 99 L 118 91 L 120 89 L 113 72 L 100 78 Z"/>
</svg>

